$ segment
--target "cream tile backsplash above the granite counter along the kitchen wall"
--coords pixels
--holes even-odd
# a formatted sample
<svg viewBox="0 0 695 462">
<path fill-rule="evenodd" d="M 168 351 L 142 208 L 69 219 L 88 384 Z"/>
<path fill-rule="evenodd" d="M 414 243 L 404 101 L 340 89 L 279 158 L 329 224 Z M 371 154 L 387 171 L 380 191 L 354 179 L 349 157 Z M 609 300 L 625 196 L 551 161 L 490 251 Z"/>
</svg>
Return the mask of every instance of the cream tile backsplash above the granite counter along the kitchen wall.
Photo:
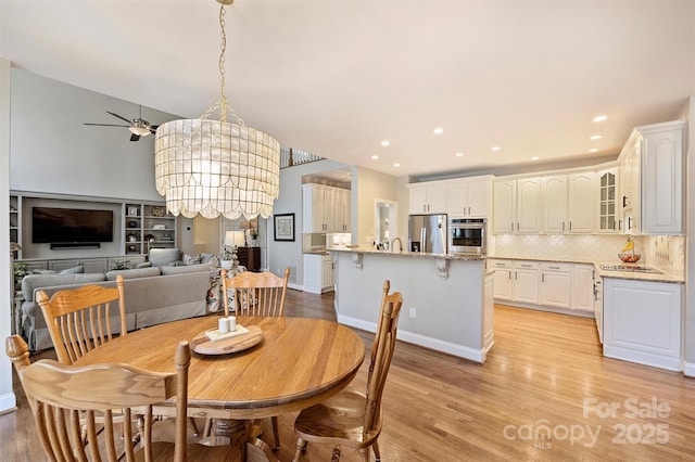
<svg viewBox="0 0 695 462">
<path fill-rule="evenodd" d="M 684 271 L 685 238 L 682 235 L 634 235 L 640 264 L 681 274 Z M 614 234 L 497 234 L 489 240 L 489 256 L 569 259 L 619 264 L 626 235 Z"/>
</svg>

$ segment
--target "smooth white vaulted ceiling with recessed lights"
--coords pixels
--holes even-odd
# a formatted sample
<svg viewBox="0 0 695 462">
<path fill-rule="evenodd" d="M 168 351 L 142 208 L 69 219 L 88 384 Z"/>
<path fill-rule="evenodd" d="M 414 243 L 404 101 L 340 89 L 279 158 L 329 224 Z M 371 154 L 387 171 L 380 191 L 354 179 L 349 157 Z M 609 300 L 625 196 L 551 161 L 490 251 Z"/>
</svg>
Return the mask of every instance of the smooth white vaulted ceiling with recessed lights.
<svg viewBox="0 0 695 462">
<path fill-rule="evenodd" d="M 219 95 L 218 11 L 214 0 L 0 0 L 0 56 L 199 117 Z M 395 176 L 615 157 L 632 127 L 678 117 L 695 94 L 695 1 L 236 0 L 226 11 L 226 93 L 247 125 Z"/>
</svg>

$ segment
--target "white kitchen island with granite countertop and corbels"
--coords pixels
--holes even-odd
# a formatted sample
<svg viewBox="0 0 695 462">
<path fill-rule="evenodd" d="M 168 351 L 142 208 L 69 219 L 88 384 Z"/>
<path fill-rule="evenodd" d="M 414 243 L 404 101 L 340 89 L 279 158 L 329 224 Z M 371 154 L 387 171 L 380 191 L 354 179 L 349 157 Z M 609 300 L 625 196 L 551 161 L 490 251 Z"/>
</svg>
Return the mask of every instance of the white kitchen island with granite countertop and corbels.
<svg viewBox="0 0 695 462">
<path fill-rule="evenodd" d="M 479 255 L 331 249 L 338 322 L 376 332 L 384 280 L 401 292 L 401 341 L 484 362 L 494 343 L 493 274 Z"/>
</svg>

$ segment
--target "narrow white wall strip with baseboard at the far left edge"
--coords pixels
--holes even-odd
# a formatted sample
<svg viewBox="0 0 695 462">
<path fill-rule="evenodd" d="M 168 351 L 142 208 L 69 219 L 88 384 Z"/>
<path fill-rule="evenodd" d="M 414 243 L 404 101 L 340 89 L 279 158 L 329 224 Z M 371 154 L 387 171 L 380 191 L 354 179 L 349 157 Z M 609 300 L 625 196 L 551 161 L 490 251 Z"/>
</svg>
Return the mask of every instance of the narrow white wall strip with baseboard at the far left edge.
<svg viewBox="0 0 695 462">
<path fill-rule="evenodd" d="M 0 216 L 10 216 L 10 62 L 0 59 Z M 7 223 L 7 221 L 2 221 Z M 10 242 L 10 229 L 0 227 L 0 242 Z M 8 244 L 5 244 L 8 245 Z M 10 280 L 10 249 L 0 252 L 0 339 L 10 336 L 10 310 L 13 309 L 14 288 Z M 0 412 L 16 406 L 12 392 L 12 364 L 4 354 L 0 354 Z"/>
</svg>

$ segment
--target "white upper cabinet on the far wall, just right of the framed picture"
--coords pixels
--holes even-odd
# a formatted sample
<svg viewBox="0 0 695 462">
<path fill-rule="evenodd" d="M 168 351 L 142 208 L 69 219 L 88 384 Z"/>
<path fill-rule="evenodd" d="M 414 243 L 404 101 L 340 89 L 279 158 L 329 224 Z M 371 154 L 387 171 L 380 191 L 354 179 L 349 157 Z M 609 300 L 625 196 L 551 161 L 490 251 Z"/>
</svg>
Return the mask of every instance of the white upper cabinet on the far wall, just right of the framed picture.
<svg viewBox="0 0 695 462">
<path fill-rule="evenodd" d="M 350 190 L 302 184 L 303 232 L 349 232 Z"/>
</svg>

